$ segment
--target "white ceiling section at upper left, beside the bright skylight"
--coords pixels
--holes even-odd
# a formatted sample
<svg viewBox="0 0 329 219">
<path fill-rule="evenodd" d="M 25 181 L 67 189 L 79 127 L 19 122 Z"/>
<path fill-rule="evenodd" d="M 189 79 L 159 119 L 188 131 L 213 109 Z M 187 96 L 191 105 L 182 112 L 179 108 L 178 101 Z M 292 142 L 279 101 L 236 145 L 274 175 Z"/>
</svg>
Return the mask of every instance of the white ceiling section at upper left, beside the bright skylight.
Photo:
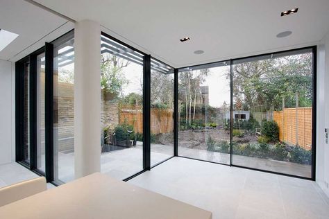
<svg viewBox="0 0 329 219">
<path fill-rule="evenodd" d="M 19 36 L 0 52 L 0 60 L 15 62 L 24 58 L 73 27 L 67 20 L 24 0 L 1 0 L 0 28 Z"/>
</svg>

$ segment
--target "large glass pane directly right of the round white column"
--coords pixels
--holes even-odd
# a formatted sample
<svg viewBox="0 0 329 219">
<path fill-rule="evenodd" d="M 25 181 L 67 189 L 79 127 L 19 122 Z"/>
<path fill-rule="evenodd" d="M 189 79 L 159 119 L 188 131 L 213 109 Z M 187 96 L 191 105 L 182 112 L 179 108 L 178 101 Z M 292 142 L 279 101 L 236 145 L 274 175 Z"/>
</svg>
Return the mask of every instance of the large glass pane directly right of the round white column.
<svg viewBox="0 0 329 219">
<path fill-rule="evenodd" d="M 101 36 L 101 172 L 118 179 L 143 169 L 143 58 Z"/>
</svg>

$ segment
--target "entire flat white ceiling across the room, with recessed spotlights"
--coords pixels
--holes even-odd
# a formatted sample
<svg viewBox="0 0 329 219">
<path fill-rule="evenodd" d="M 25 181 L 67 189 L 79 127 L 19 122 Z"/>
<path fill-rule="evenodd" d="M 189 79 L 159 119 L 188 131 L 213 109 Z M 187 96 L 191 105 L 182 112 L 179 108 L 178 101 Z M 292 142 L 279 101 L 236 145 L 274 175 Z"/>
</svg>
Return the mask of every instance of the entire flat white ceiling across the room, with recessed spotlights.
<svg viewBox="0 0 329 219">
<path fill-rule="evenodd" d="M 105 32 L 174 67 L 318 44 L 329 28 L 328 0 L 36 1 L 76 21 L 99 21 Z M 11 2 L 1 1 L 0 28 L 9 23 L 31 42 L 64 22 L 23 0 Z M 298 13 L 280 17 L 292 8 Z M 292 35 L 276 37 L 285 30 Z M 183 37 L 191 40 L 181 43 Z M 195 55 L 196 50 L 205 53 Z"/>
</svg>

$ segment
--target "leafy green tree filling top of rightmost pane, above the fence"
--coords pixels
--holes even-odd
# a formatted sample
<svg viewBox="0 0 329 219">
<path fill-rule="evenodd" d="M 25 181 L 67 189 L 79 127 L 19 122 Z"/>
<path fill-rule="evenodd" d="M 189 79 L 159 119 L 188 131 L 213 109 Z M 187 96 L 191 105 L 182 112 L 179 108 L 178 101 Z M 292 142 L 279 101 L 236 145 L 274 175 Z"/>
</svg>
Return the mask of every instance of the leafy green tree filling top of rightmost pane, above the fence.
<svg viewBox="0 0 329 219">
<path fill-rule="evenodd" d="M 242 99 L 244 109 L 258 105 L 280 109 L 282 97 L 287 107 L 294 107 L 296 92 L 300 106 L 312 106 L 311 53 L 233 65 L 233 96 Z"/>
</svg>

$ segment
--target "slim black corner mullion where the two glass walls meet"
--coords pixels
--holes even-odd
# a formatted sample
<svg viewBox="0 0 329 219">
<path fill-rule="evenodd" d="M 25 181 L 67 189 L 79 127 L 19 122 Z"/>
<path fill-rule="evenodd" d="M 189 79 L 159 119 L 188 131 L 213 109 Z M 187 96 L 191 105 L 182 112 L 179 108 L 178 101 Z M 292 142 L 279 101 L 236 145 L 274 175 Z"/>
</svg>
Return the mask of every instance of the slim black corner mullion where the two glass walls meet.
<svg viewBox="0 0 329 219">
<path fill-rule="evenodd" d="M 174 69 L 174 157 L 178 156 L 178 69 Z"/>
</svg>

